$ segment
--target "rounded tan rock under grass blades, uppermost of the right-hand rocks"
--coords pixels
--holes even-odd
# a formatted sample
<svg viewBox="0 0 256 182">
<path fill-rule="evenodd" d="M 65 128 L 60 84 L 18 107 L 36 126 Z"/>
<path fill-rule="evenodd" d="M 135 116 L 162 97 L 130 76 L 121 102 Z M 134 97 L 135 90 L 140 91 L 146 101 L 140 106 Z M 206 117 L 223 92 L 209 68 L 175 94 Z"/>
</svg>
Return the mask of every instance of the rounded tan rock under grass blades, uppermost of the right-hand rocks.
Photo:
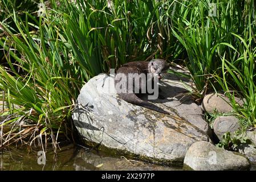
<svg viewBox="0 0 256 182">
<path fill-rule="evenodd" d="M 242 100 L 238 98 L 235 100 L 239 105 L 243 104 Z M 220 93 L 206 94 L 204 100 L 202 101 L 202 108 L 209 113 L 214 113 L 214 111 L 218 111 L 219 113 L 226 113 L 233 110 L 229 98 Z"/>
</svg>

